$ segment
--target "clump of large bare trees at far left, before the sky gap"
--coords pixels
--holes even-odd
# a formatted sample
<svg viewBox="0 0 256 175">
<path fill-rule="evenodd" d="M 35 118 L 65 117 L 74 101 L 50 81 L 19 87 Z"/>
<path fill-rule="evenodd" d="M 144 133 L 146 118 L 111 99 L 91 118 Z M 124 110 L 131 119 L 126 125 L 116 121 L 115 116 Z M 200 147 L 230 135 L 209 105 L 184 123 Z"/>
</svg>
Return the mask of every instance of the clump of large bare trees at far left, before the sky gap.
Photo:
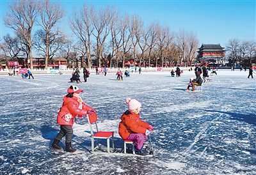
<svg viewBox="0 0 256 175">
<path fill-rule="evenodd" d="M 7 27 L 15 31 L 15 36 L 3 37 L 1 49 L 9 57 L 19 58 L 26 55 L 26 62 L 33 68 L 33 47 L 45 57 L 47 68 L 49 58 L 63 46 L 64 37 L 57 23 L 63 18 L 64 10 L 59 4 L 45 1 L 18 0 L 9 5 L 10 10 L 4 17 Z M 41 29 L 32 36 L 35 24 Z"/>
</svg>

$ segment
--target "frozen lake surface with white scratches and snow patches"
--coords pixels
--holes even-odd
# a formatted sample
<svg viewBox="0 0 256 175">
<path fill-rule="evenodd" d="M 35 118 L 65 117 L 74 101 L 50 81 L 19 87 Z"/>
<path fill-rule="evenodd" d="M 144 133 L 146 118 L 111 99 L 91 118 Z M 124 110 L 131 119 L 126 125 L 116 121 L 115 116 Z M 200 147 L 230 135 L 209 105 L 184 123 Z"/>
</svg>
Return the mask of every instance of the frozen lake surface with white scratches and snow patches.
<svg viewBox="0 0 256 175">
<path fill-rule="evenodd" d="M 98 111 L 100 130 L 115 131 L 118 148 L 124 146 L 118 123 L 125 98 L 140 101 L 141 118 L 155 127 L 153 158 L 92 155 L 86 118 L 74 125 L 72 144 L 79 151 L 52 154 L 60 130 L 56 116 L 71 76 L 1 76 L 0 174 L 255 174 L 256 80 L 247 76 L 219 71 L 202 92 L 184 91 L 193 72 L 179 78 L 133 73 L 123 81 L 115 73 L 91 74 L 87 83 L 74 84 Z"/>
</svg>

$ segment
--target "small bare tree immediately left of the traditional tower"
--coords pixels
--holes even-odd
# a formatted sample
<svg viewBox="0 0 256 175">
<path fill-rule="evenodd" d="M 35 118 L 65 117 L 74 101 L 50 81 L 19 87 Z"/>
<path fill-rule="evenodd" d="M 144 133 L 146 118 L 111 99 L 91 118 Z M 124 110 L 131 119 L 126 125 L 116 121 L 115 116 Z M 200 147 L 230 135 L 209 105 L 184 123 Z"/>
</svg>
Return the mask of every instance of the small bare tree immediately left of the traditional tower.
<svg viewBox="0 0 256 175">
<path fill-rule="evenodd" d="M 196 50 L 198 48 L 198 38 L 193 32 L 187 35 L 187 47 L 185 50 L 187 65 L 191 64 L 191 61 L 196 57 Z M 191 66 L 191 65 L 190 65 Z"/>
</svg>

